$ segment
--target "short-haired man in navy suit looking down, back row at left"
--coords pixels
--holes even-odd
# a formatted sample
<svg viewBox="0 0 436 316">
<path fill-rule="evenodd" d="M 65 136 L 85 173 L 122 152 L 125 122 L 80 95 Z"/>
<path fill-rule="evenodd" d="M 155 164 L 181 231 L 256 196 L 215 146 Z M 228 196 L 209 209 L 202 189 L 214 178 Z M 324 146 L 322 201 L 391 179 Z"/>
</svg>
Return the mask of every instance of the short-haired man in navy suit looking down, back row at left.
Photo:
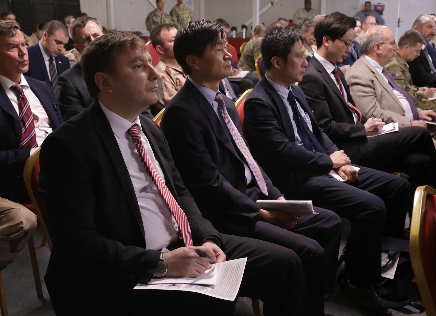
<svg viewBox="0 0 436 316">
<path fill-rule="evenodd" d="M 70 68 L 68 58 L 61 54 L 68 38 L 67 27 L 52 20 L 45 24 L 38 45 L 27 48 L 29 70 L 25 75 L 47 82 L 53 88 L 54 94 L 58 92 L 59 75 Z"/>
</svg>

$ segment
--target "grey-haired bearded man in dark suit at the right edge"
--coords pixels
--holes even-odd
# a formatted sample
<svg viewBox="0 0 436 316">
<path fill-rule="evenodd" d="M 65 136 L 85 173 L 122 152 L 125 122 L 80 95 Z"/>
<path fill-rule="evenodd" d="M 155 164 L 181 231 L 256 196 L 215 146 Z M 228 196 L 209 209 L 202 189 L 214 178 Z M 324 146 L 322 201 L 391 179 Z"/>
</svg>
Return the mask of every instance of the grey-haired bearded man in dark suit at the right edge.
<svg viewBox="0 0 436 316">
<path fill-rule="evenodd" d="M 435 21 L 429 14 L 422 14 L 416 18 L 412 30 L 418 31 L 428 42 L 435 36 Z M 431 44 L 424 45 L 421 54 L 415 60 L 409 61 L 409 71 L 412 82 L 418 87 L 436 87 L 436 59 L 432 57 L 433 47 Z M 436 53 L 435 53 L 436 54 Z"/>
</svg>

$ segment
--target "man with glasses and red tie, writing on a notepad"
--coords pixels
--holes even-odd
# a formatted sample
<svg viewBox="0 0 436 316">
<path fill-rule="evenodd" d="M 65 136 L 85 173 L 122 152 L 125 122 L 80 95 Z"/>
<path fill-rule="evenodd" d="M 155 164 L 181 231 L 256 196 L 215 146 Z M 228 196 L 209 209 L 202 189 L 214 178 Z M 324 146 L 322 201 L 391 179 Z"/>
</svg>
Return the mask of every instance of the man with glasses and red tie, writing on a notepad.
<svg viewBox="0 0 436 316">
<path fill-rule="evenodd" d="M 299 87 L 303 89 L 320 128 L 353 163 L 405 172 L 410 176 L 413 190 L 419 185 L 431 185 L 436 180 L 433 173 L 436 150 L 426 129 L 411 126 L 367 138 L 377 134 L 384 123 L 379 118 L 367 119 L 361 114 L 342 71 L 335 66 L 354 48 L 355 23 L 354 18 L 342 13 L 332 13 L 317 23 L 317 52 L 310 60 Z M 329 49 L 333 38 L 342 46 Z"/>
</svg>

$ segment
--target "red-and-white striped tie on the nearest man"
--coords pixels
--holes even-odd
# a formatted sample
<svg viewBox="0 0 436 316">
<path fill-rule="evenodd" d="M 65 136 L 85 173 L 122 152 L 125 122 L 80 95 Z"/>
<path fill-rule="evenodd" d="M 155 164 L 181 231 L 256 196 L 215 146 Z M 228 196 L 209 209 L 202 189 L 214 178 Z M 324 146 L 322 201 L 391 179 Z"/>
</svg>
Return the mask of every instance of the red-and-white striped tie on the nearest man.
<svg viewBox="0 0 436 316">
<path fill-rule="evenodd" d="M 168 208 L 174 215 L 174 218 L 179 225 L 179 237 L 183 240 L 185 246 L 192 246 L 191 228 L 189 227 L 188 219 L 181 207 L 177 204 L 170 190 L 168 190 L 162 178 L 160 178 L 160 175 L 157 173 L 156 169 L 153 167 L 153 164 L 150 162 L 141 140 L 138 124 L 133 125 L 127 132 L 132 138 L 133 144 L 138 151 L 145 170 L 153 179 L 154 184 L 164 198 L 165 202 L 167 202 Z"/>
</svg>

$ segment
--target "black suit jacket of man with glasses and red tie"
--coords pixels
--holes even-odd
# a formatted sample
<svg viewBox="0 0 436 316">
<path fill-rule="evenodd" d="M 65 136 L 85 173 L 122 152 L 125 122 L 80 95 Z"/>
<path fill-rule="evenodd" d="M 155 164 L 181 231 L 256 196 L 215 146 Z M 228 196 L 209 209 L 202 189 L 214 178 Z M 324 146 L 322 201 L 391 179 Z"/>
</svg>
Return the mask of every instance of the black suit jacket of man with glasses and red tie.
<svg viewBox="0 0 436 316">
<path fill-rule="evenodd" d="M 350 89 L 345 81 L 342 71 L 339 71 L 342 85 L 347 94 L 348 102 L 353 104 Z M 354 124 L 354 116 L 349 106 L 345 103 L 341 91 L 327 73 L 324 66 L 316 58 L 311 58 L 303 76 L 298 84 L 306 95 L 307 103 L 313 110 L 318 125 L 328 137 L 348 154 L 353 151 L 353 156 L 358 157 L 357 148 L 352 144 L 355 141 L 366 141 L 364 123 L 367 119 L 362 116 L 362 124 Z M 350 144 L 351 143 L 351 144 Z M 357 163 L 357 157 L 352 161 Z"/>
</svg>

